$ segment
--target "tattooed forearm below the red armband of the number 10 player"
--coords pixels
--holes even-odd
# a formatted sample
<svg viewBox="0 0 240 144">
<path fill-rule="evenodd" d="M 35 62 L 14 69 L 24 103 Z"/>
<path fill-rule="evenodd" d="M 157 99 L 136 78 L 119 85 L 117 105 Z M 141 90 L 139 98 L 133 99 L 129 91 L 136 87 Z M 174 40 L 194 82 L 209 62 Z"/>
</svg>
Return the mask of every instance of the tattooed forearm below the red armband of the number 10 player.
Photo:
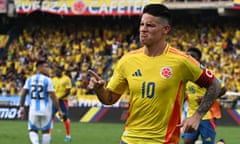
<svg viewBox="0 0 240 144">
<path fill-rule="evenodd" d="M 220 84 L 216 78 L 214 78 L 213 84 L 207 89 L 205 96 L 203 97 L 201 104 L 198 108 L 198 113 L 203 117 L 208 110 L 211 108 L 212 104 L 215 102 L 220 92 Z"/>
</svg>

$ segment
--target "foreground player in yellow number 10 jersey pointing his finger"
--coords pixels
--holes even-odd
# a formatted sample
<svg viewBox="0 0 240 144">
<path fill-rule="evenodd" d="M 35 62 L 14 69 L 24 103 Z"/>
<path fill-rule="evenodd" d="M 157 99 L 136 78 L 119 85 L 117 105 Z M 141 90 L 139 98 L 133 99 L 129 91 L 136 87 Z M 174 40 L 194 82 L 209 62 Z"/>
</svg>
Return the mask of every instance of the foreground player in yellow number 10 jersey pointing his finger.
<svg viewBox="0 0 240 144">
<path fill-rule="evenodd" d="M 121 144 L 178 144 L 180 128 L 197 130 L 220 90 L 215 76 L 184 52 L 173 48 L 166 38 L 171 14 L 162 4 L 149 4 L 140 21 L 143 47 L 124 55 L 110 81 L 89 70 L 89 89 L 106 105 L 114 104 L 128 90 L 129 113 Z M 207 92 L 192 117 L 181 122 L 185 86 L 193 81 Z"/>
</svg>

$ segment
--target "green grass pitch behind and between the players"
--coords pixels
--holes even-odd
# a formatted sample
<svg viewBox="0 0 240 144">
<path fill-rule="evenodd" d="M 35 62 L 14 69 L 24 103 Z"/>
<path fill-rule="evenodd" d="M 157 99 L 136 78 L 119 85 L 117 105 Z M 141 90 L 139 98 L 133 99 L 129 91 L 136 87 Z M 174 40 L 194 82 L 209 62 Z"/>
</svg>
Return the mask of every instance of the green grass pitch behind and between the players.
<svg viewBox="0 0 240 144">
<path fill-rule="evenodd" d="M 71 144 L 119 144 L 124 124 L 120 123 L 71 123 Z M 217 128 L 217 139 L 224 138 L 227 144 L 240 143 L 240 127 Z M 54 124 L 52 144 L 64 144 L 65 131 L 61 122 Z M 2 144 L 30 144 L 26 121 L 0 121 Z M 182 144 L 182 142 L 180 142 Z"/>
</svg>

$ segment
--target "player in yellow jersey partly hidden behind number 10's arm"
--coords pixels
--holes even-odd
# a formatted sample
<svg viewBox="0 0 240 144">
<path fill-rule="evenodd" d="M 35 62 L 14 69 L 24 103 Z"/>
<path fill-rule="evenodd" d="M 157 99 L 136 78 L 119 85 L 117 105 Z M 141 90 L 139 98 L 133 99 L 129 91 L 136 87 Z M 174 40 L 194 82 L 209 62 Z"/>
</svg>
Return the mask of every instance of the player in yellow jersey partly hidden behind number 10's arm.
<svg viewBox="0 0 240 144">
<path fill-rule="evenodd" d="M 197 61 L 200 62 L 202 53 L 198 48 L 192 47 L 187 50 L 187 54 L 191 55 Z M 206 88 L 200 87 L 197 84 L 189 81 L 186 85 L 186 95 L 188 102 L 187 117 L 191 117 L 199 107 L 199 104 L 206 92 Z M 224 95 L 226 88 L 221 86 L 221 92 L 219 97 Z M 197 141 L 198 136 L 201 136 L 203 144 L 215 144 L 216 136 L 216 120 L 221 118 L 221 110 L 219 101 L 216 100 L 210 110 L 202 118 L 197 131 L 193 133 L 184 133 L 184 144 L 194 144 Z"/>
</svg>

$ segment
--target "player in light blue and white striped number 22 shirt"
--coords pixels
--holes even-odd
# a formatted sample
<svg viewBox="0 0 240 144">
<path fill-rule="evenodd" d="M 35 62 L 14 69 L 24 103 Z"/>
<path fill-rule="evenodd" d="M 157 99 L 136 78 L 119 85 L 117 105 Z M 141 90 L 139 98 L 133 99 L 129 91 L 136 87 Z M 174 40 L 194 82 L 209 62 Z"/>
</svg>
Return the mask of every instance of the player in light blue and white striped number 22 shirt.
<svg viewBox="0 0 240 144">
<path fill-rule="evenodd" d="M 28 130 L 32 144 L 39 144 L 38 132 L 42 132 L 42 144 L 49 144 L 51 136 L 49 130 L 52 120 L 52 105 L 54 104 L 60 116 L 63 115 L 55 95 L 52 80 L 48 77 L 49 65 L 40 60 L 36 63 L 36 74 L 29 77 L 20 92 L 20 116 L 24 118 L 24 103 L 29 96 Z"/>
</svg>

